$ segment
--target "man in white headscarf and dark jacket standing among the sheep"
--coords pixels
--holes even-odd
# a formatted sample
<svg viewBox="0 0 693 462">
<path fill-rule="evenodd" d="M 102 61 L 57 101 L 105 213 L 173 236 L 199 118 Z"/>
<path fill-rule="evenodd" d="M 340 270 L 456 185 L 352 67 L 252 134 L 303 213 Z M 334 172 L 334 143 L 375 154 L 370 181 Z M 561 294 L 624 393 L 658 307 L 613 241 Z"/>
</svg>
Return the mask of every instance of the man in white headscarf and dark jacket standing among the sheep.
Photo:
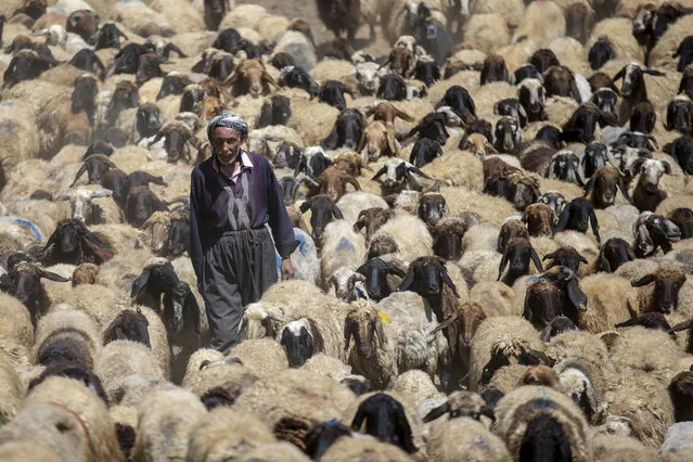
<svg viewBox="0 0 693 462">
<path fill-rule="evenodd" d="M 287 280 L 294 277 L 290 256 L 298 246 L 272 167 L 241 149 L 247 136 L 247 124 L 231 112 L 209 120 L 211 156 L 191 174 L 191 259 L 209 346 L 224 354 L 242 341 L 244 307 L 278 280 L 274 248 Z"/>
</svg>

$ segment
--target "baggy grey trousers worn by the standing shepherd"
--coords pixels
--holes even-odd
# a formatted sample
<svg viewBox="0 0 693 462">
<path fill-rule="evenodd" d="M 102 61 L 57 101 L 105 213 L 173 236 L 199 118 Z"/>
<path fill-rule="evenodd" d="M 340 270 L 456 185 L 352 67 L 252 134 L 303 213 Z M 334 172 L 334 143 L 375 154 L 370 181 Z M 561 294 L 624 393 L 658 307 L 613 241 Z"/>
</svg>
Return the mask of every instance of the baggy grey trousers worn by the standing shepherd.
<svg viewBox="0 0 693 462">
<path fill-rule="evenodd" d="M 228 231 L 205 252 L 202 296 L 209 347 L 224 354 L 242 341 L 244 307 L 277 282 L 274 243 L 267 228 Z"/>
</svg>

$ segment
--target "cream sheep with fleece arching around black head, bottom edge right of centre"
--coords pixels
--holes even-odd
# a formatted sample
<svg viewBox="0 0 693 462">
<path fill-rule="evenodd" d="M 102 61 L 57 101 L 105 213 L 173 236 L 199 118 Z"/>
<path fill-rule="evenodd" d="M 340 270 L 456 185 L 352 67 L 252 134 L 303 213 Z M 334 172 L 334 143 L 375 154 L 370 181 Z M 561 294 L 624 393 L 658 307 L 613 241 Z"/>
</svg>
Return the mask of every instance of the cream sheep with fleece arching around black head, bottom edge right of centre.
<svg viewBox="0 0 693 462">
<path fill-rule="evenodd" d="M 514 459 L 541 451 L 554 457 L 567 454 L 574 461 L 591 460 L 582 412 L 560 392 L 543 386 L 519 387 L 501 398 L 495 414 L 492 431 L 505 441 Z"/>
</svg>

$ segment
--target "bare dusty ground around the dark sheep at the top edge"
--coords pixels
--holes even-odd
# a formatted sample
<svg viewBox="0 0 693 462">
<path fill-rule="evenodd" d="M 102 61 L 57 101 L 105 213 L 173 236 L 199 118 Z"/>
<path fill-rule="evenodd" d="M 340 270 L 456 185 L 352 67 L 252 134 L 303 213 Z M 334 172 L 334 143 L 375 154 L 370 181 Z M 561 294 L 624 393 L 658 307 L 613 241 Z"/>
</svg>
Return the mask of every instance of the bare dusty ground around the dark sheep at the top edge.
<svg viewBox="0 0 693 462">
<path fill-rule="evenodd" d="M 316 39 L 316 44 L 326 42 L 334 38 L 334 34 L 328 30 L 325 25 L 318 16 L 318 7 L 316 0 L 236 0 L 236 4 L 253 3 L 264 7 L 268 12 L 286 16 L 290 20 L 303 17 L 308 21 Z M 357 49 L 364 49 L 370 53 L 386 54 L 389 51 L 389 44 L 382 38 L 383 35 L 380 27 L 375 28 L 377 39 L 374 42 L 369 40 L 369 27 L 361 25 L 356 38 Z"/>
</svg>

